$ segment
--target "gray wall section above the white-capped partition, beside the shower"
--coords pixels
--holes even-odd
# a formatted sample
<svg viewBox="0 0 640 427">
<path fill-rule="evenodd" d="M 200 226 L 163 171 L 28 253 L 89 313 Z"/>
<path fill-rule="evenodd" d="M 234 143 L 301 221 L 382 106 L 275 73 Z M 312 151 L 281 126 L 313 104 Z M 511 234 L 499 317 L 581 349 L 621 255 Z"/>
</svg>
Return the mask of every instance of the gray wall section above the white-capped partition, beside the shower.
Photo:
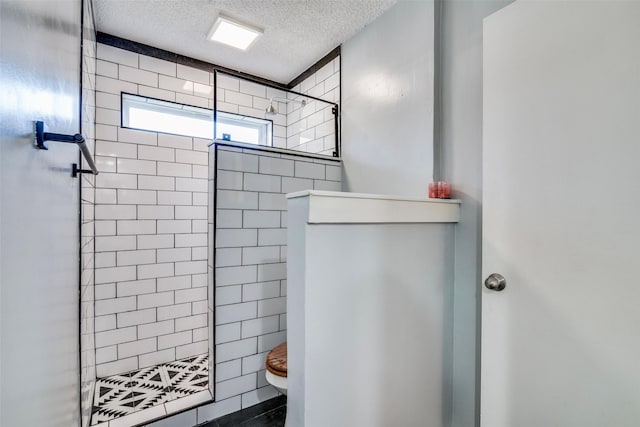
<svg viewBox="0 0 640 427">
<path fill-rule="evenodd" d="M 433 170 L 432 2 L 400 1 L 342 46 L 344 190 L 424 196 Z"/>
</svg>

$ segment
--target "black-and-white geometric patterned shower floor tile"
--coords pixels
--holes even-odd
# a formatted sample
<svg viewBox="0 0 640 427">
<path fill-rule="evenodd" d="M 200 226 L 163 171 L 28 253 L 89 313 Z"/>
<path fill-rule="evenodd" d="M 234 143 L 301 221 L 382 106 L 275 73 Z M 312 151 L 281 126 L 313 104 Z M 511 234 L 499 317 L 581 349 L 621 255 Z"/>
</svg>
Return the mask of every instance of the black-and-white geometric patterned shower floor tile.
<svg viewBox="0 0 640 427">
<path fill-rule="evenodd" d="M 91 425 L 207 390 L 208 354 L 96 381 Z"/>
</svg>

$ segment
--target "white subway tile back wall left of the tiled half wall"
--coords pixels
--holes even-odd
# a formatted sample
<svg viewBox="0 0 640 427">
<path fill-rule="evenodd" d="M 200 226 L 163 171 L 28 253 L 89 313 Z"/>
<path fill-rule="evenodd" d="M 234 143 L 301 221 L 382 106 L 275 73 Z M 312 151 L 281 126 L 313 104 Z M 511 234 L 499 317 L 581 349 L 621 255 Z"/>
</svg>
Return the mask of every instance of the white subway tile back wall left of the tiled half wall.
<svg viewBox="0 0 640 427">
<path fill-rule="evenodd" d="M 120 95 L 208 107 L 213 74 L 103 44 L 97 58 L 96 354 L 105 377 L 208 350 L 210 141 L 120 127 Z"/>
</svg>

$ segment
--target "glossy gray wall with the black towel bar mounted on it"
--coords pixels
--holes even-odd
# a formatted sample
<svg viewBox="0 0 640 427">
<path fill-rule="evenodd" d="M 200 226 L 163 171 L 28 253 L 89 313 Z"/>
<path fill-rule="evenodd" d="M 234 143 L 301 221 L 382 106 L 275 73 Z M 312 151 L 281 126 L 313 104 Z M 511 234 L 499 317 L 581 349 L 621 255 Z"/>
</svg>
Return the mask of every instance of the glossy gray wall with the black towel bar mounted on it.
<svg viewBox="0 0 640 427">
<path fill-rule="evenodd" d="M 78 424 L 80 1 L 0 2 L 0 425 Z"/>
</svg>

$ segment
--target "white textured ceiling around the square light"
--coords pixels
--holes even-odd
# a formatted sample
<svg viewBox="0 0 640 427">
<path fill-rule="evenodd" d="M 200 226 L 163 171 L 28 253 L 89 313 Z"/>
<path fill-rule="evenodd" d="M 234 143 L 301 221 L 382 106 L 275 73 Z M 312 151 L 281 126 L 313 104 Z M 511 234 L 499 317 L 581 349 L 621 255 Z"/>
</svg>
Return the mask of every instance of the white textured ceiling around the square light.
<svg viewBox="0 0 640 427">
<path fill-rule="evenodd" d="M 289 83 L 397 0 L 94 0 L 98 31 Z M 219 12 L 264 29 L 247 51 L 207 40 Z"/>
</svg>

